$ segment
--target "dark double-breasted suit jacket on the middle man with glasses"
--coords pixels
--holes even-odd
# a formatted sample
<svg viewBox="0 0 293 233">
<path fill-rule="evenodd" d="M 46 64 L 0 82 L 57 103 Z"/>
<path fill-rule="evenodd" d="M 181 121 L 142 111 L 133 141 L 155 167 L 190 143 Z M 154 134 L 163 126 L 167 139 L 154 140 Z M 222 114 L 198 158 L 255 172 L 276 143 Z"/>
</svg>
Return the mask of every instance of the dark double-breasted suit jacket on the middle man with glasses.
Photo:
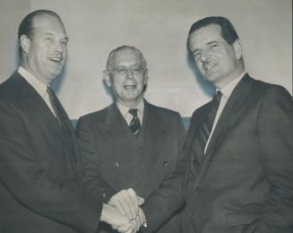
<svg viewBox="0 0 293 233">
<path fill-rule="evenodd" d="M 90 191 L 100 195 L 102 190 L 108 202 L 112 194 L 133 187 L 146 200 L 143 211 L 152 231 L 182 204 L 182 174 L 171 172 L 185 141 L 185 130 L 178 113 L 144 103 L 142 153 L 135 152 L 134 135 L 116 104 L 82 116 L 76 131 L 85 161 L 84 182 Z M 180 232 L 180 218 L 176 218 L 158 232 Z"/>
</svg>

